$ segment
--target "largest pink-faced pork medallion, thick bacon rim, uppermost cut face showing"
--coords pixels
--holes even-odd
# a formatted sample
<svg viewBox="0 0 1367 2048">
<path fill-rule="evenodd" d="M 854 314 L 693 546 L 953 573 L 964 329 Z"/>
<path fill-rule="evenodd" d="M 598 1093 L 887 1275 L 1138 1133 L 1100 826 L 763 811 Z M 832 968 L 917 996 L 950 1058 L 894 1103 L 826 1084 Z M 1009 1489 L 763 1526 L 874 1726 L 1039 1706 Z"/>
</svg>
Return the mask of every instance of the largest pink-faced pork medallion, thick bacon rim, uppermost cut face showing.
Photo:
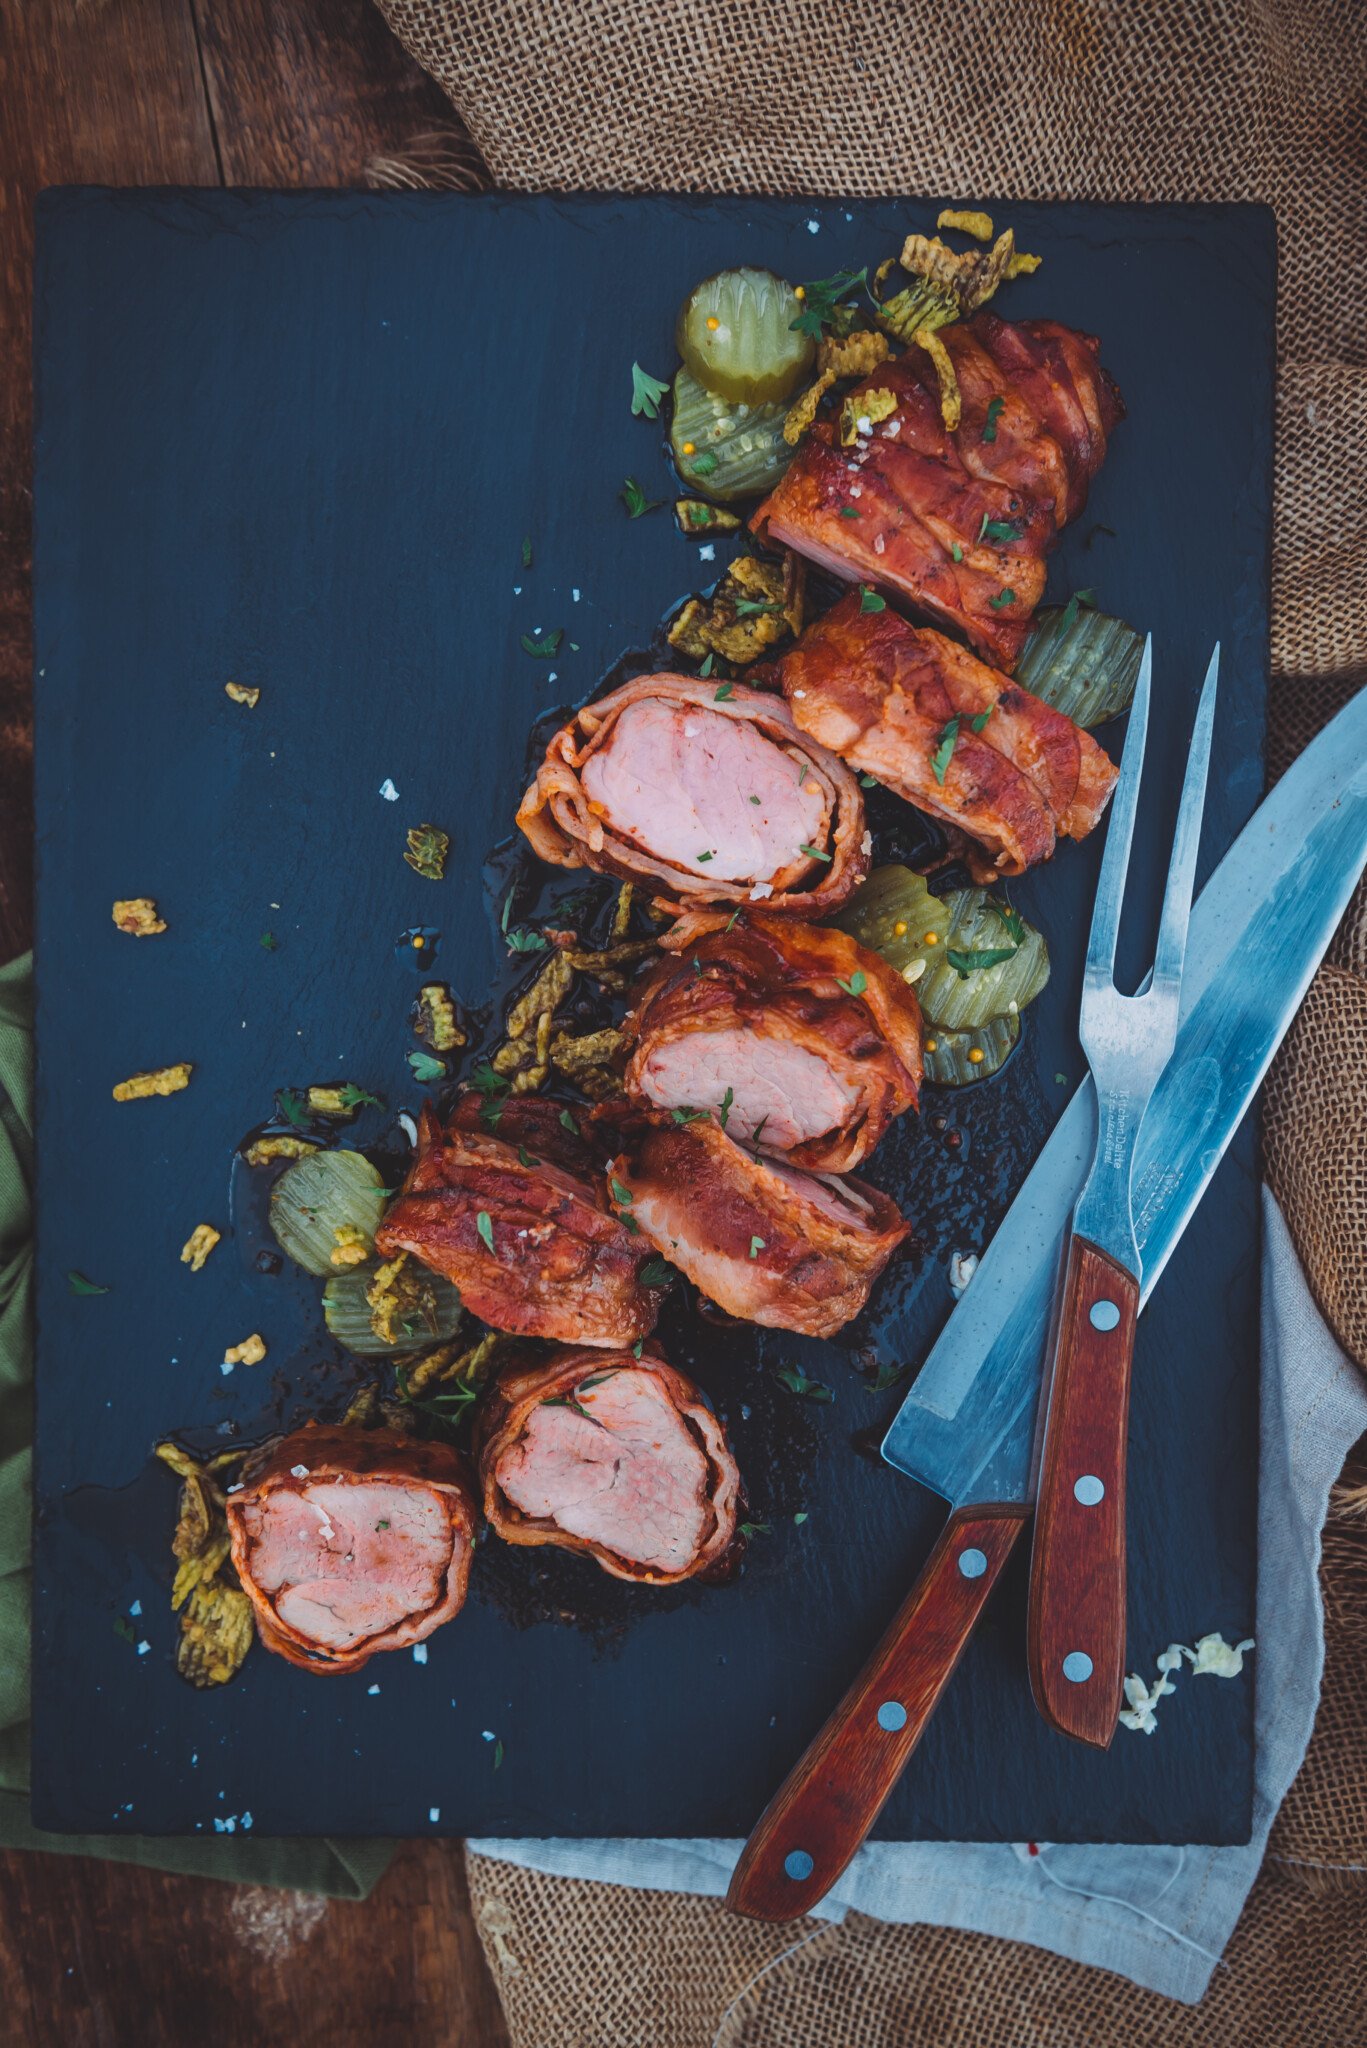
<svg viewBox="0 0 1367 2048">
<path fill-rule="evenodd" d="M 516 821 L 535 852 L 646 883 L 668 911 L 762 903 L 820 918 L 869 866 L 859 782 L 740 682 L 637 676 L 547 748 Z"/>
</svg>

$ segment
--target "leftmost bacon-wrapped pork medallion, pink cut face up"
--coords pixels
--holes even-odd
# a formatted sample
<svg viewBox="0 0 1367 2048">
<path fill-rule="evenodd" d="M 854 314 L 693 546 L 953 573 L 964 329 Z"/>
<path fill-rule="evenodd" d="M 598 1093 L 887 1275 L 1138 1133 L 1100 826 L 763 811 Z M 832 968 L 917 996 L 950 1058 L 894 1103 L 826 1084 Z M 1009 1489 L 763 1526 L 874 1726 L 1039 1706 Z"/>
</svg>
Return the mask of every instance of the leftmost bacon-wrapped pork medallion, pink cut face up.
<svg viewBox="0 0 1367 2048">
<path fill-rule="evenodd" d="M 359 1671 L 461 1612 L 480 1509 L 449 1444 L 309 1423 L 227 1495 L 256 1630 L 305 1671 Z"/>
</svg>

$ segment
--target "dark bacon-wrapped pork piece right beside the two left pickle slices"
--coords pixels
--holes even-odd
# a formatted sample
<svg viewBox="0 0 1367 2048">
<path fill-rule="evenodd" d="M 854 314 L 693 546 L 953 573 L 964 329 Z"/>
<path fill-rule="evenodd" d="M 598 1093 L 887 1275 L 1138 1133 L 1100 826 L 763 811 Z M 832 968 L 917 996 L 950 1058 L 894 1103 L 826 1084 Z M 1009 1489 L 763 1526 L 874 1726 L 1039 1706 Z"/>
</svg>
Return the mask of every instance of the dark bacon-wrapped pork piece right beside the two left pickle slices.
<svg viewBox="0 0 1367 2048">
<path fill-rule="evenodd" d="M 656 1327 L 662 1290 L 641 1284 L 650 1245 L 609 1206 L 600 1163 L 562 1106 L 461 1096 L 449 1128 L 422 1112 L 418 1149 L 375 1233 L 461 1290 L 492 1329 L 629 1346 Z"/>
</svg>

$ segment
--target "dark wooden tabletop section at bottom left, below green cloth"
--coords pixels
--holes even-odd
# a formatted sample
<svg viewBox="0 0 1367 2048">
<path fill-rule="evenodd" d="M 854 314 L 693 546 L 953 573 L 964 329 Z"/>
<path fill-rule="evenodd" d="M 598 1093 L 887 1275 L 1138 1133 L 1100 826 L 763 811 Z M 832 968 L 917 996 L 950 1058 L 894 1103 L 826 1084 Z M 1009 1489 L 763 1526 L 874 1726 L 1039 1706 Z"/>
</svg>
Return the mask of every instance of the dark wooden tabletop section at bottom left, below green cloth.
<svg viewBox="0 0 1367 2048">
<path fill-rule="evenodd" d="M 410 1843 L 359 1905 L 0 1855 L 6 2048 L 506 2048 L 455 1843 Z"/>
</svg>

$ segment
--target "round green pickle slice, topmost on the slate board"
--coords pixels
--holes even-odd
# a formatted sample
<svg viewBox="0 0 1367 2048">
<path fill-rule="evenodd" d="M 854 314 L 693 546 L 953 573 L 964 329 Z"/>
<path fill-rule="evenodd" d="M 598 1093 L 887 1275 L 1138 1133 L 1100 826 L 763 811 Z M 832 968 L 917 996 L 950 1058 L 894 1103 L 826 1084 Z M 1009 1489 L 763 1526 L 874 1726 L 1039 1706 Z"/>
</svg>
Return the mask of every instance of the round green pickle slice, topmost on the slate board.
<svg viewBox="0 0 1367 2048">
<path fill-rule="evenodd" d="M 816 344 L 793 322 L 801 299 L 773 270 L 717 270 L 685 299 L 674 340 L 689 371 L 734 406 L 793 395 Z"/>
</svg>

